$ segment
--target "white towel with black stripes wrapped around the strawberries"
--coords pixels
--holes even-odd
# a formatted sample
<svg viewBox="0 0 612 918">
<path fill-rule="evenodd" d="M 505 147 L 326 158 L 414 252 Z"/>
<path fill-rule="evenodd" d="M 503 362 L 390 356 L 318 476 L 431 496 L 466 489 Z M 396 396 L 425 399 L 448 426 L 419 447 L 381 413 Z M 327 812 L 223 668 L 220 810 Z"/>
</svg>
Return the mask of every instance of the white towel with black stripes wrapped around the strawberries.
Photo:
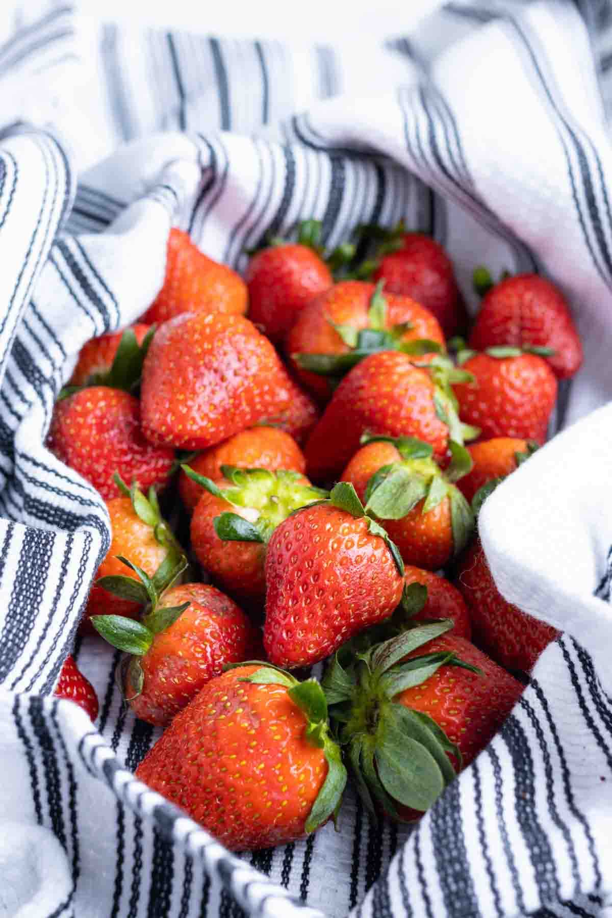
<svg viewBox="0 0 612 918">
<path fill-rule="evenodd" d="M 612 914 L 612 29 L 582 6 L 452 3 L 339 50 L 0 10 L 2 918 Z M 237 857 L 133 778 L 158 733 L 122 706 L 117 655 L 77 642 L 95 727 L 50 695 L 109 532 L 43 443 L 83 342 L 161 285 L 172 224 L 241 268 L 306 217 L 329 245 L 405 218 L 472 307 L 477 263 L 566 291 L 585 350 L 567 430 L 481 520 L 506 598 L 564 635 L 416 828 L 349 794 L 338 834 Z"/>
</svg>

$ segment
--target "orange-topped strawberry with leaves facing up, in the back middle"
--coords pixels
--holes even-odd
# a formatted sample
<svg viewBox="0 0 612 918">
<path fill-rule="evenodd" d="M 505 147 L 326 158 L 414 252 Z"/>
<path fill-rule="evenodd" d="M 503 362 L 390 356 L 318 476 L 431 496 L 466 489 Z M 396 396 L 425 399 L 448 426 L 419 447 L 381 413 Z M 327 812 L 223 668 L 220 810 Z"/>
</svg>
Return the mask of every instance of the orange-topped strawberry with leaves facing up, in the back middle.
<svg viewBox="0 0 612 918">
<path fill-rule="evenodd" d="M 295 373 L 319 401 L 328 401 L 339 379 L 369 353 L 443 349 L 428 309 L 363 281 L 342 281 L 315 297 L 285 341 Z"/>
</svg>

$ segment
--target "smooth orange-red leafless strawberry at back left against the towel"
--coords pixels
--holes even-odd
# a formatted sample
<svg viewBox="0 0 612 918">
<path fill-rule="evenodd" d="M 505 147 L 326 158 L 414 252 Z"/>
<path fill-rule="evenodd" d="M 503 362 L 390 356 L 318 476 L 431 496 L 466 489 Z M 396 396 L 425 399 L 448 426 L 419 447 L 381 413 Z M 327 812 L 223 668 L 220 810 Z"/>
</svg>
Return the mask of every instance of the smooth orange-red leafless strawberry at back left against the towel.
<svg viewBox="0 0 612 918">
<path fill-rule="evenodd" d="M 166 276 L 143 322 L 165 322 L 183 312 L 244 315 L 247 285 L 239 274 L 208 258 L 182 229 L 171 229 Z"/>
</svg>

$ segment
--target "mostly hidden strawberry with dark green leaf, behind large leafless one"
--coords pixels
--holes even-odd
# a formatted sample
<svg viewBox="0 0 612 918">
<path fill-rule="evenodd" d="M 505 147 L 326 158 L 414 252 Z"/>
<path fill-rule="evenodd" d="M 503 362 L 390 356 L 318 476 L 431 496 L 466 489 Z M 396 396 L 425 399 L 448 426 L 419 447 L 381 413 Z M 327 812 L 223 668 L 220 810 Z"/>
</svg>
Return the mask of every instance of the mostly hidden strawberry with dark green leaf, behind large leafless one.
<svg viewBox="0 0 612 918">
<path fill-rule="evenodd" d="M 154 326 L 137 323 L 87 341 L 70 383 L 62 391 L 70 395 L 81 386 L 111 386 L 133 392 L 139 386 L 142 362 L 154 332 Z"/>
</svg>

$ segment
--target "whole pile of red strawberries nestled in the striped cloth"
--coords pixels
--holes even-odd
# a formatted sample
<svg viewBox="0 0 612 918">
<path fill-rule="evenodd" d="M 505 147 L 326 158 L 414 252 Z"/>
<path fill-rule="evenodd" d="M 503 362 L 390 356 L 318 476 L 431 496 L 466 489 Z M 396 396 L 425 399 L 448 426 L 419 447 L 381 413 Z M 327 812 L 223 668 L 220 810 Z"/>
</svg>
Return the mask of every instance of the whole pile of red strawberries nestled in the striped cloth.
<svg viewBox="0 0 612 918">
<path fill-rule="evenodd" d="M 83 347 L 48 440 L 106 500 L 81 627 L 166 728 L 137 774 L 238 850 L 335 819 L 347 772 L 417 819 L 555 637 L 495 588 L 476 518 L 580 367 L 562 294 L 477 269 L 466 343 L 435 241 L 319 237 L 306 221 L 242 279 L 172 229 L 159 296 Z M 95 717 L 72 658 L 58 691 Z"/>
</svg>

